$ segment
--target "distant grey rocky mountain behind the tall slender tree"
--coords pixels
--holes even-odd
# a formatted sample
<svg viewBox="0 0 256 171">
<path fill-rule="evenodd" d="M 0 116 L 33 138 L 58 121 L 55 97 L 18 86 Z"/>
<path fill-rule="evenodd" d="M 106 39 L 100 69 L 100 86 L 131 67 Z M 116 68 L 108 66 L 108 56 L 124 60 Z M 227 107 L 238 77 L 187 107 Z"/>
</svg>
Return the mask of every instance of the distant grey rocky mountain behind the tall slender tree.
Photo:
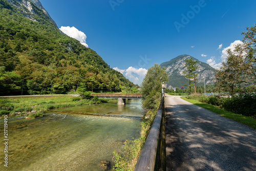
<svg viewBox="0 0 256 171">
<path fill-rule="evenodd" d="M 193 58 L 194 61 L 197 61 L 197 66 L 199 67 L 196 70 L 196 74 L 198 76 L 196 77 L 198 80 L 196 81 L 197 86 L 202 86 L 204 84 L 212 84 L 214 83 L 215 79 L 215 69 L 210 67 L 207 63 L 201 62 L 198 59 L 189 56 L 189 55 L 180 55 L 176 58 L 171 59 L 170 61 L 161 63 L 161 67 L 166 68 L 166 72 L 168 74 L 169 80 L 167 82 L 167 88 L 181 88 L 182 85 L 187 85 L 188 80 L 185 78 L 185 74 L 183 74 L 183 71 L 185 70 L 185 60 Z M 194 83 L 194 81 L 193 81 Z"/>
</svg>

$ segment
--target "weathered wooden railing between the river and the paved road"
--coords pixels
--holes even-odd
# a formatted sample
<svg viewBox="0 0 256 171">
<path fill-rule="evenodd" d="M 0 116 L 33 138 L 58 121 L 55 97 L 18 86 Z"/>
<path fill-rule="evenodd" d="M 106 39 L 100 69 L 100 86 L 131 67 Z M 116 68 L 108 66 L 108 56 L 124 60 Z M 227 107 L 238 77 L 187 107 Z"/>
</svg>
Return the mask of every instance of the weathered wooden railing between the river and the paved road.
<svg viewBox="0 0 256 171">
<path fill-rule="evenodd" d="M 135 171 L 166 170 L 164 122 L 164 97 L 162 97 L 157 115 L 147 136 Z"/>
</svg>

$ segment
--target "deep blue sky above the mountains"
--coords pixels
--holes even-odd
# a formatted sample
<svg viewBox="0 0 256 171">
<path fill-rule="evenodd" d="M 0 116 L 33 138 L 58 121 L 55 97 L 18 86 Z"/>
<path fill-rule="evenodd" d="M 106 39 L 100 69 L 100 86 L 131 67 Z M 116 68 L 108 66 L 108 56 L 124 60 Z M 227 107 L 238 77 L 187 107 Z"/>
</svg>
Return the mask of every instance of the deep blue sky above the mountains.
<svg viewBox="0 0 256 171">
<path fill-rule="evenodd" d="M 40 2 L 59 28 L 80 35 L 111 68 L 138 84 L 154 63 L 183 54 L 220 67 L 225 49 L 256 24 L 255 0 Z"/>
</svg>

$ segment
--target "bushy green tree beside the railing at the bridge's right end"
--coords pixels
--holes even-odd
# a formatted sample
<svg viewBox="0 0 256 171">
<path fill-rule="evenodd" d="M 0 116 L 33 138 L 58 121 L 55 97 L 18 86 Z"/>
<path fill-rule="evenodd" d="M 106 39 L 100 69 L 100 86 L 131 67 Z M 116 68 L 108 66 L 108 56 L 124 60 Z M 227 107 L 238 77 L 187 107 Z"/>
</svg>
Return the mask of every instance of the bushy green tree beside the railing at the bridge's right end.
<svg viewBox="0 0 256 171">
<path fill-rule="evenodd" d="M 165 68 L 160 67 L 157 63 L 147 70 L 147 73 L 141 83 L 142 107 L 153 109 L 156 100 L 161 95 L 161 81 L 166 82 L 168 75 Z"/>
</svg>

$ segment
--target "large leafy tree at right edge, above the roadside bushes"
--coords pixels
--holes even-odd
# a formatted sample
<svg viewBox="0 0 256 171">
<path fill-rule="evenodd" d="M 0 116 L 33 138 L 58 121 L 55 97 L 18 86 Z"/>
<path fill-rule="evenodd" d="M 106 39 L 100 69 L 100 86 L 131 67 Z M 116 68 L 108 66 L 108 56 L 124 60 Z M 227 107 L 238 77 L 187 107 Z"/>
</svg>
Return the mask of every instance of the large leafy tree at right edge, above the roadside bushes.
<svg viewBox="0 0 256 171">
<path fill-rule="evenodd" d="M 256 25 L 248 27 L 244 35 L 243 44 L 239 44 L 231 51 L 227 50 L 227 58 L 222 67 L 216 71 L 216 86 L 219 91 L 230 95 L 238 92 L 250 92 L 248 88 L 256 86 Z"/>
</svg>

